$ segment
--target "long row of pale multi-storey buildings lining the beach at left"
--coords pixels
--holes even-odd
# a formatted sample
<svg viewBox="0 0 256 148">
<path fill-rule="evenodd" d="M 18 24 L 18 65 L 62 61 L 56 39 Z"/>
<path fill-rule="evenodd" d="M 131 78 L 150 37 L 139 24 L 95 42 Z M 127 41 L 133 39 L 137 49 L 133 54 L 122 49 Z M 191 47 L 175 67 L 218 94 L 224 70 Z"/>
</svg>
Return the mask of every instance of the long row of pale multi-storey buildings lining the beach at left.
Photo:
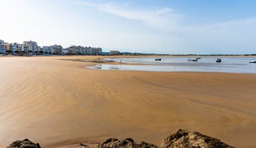
<svg viewBox="0 0 256 148">
<path fill-rule="evenodd" d="M 36 42 L 24 41 L 23 44 L 7 43 L 0 40 L 0 54 L 31 54 L 31 55 L 101 55 L 101 48 L 70 46 L 62 48 L 60 45 L 38 46 Z"/>
</svg>

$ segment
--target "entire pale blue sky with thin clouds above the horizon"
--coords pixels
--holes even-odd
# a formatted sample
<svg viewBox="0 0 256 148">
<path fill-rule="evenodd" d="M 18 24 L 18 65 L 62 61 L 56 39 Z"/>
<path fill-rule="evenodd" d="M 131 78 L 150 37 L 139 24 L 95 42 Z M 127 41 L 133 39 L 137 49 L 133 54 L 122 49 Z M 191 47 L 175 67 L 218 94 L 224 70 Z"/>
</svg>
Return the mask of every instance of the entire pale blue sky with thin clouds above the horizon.
<svg viewBox="0 0 256 148">
<path fill-rule="evenodd" d="M 0 40 L 103 52 L 255 54 L 255 0 L 0 0 Z"/>
</svg>

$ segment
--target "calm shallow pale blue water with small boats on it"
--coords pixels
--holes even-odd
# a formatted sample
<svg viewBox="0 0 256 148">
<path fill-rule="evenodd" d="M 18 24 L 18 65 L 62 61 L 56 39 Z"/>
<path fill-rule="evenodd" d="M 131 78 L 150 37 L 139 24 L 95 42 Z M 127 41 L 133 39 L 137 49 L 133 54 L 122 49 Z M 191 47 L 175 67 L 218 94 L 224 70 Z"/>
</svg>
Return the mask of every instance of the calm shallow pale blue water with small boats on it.
<svg viewBox="0 0 256 148">
<path fill-rule="evenodd" d="M 99 64 L 90 69 L 120 70 L 120 71 L 200 71 L 223 73 L 256 74 L 256 63 L 249 63 L 256 57 L 198 57 L 198 61 L 188 61 L 196 57 L 127 57 L 106 58 L 105 61 L 121 63 L 138 63 L 143 65 L 109 65 Z M 222 62 L 217 63 L 220 58 Z M 161 59 L 161 60 L 155 60 Z"/>
</svg>

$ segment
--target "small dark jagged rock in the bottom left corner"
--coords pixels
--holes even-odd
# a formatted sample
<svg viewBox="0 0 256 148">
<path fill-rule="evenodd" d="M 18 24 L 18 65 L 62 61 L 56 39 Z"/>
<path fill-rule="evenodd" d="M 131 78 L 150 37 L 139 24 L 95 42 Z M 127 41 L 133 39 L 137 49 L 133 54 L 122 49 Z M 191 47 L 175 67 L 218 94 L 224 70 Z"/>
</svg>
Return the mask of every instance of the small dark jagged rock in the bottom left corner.
<svg viewBox="0 0 256 148">
<path fill-rule="evenodd" d="M 17 140 L 6 148 L 41 148 L 38 143 L 32 143 L 29 139 Z"/>
</svg>

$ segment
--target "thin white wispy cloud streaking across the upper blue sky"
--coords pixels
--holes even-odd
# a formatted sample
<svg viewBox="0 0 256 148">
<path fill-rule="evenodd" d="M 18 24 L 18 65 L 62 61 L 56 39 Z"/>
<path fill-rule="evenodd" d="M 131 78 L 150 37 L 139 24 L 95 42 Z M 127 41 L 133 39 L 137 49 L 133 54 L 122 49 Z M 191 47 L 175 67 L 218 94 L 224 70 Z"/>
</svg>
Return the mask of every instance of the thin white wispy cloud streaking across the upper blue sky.
<svg viewBox="0 0 256 148">
<path fill-rule="evenodd" d="M 175 15 L 173 9 L 162 8 L 155 10 L 135 10 L 128 9 L 123 5 L 116 3 L 107 3 L 98 5 L 95 3 L 76 2 L 78 4 L 96 7 L 99 11 L 104 11 L 111 15 L 123 17 L 129 20 L 138 20 L 147 25 L 160 29 L 170 29 L 176 27 L 176 22 L 181 18 L 180 15 Z"/>
</svg>

